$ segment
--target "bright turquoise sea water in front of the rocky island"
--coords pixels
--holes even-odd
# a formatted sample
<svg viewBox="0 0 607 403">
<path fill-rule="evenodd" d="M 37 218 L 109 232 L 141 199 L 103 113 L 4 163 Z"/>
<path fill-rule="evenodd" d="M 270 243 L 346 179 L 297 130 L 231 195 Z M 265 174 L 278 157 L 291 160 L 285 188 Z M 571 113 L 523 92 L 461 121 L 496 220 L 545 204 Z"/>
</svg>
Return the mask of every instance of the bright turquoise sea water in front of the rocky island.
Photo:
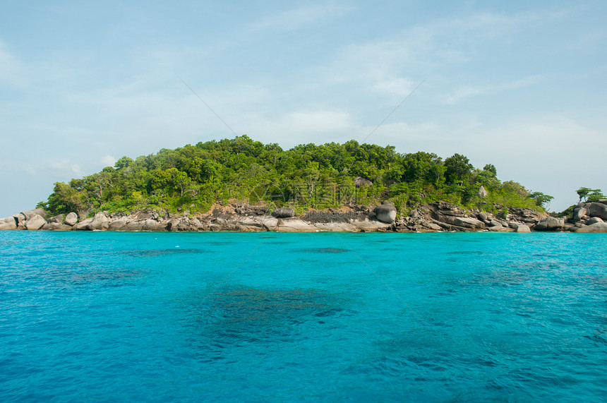
<svg viewBox="0 0 607 403">
<path fill-rule="evenodd" d="M 606 246 L 0 231 L 0 401 L 605 402 Z"/>
</svg>

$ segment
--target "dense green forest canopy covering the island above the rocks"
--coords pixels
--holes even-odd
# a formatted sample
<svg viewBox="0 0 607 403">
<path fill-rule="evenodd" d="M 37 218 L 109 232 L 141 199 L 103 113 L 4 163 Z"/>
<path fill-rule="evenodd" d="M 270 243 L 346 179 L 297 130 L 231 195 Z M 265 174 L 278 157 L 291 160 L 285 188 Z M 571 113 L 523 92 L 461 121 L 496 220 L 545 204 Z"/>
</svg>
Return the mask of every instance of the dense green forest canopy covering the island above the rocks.
<svg viewBox="0 0 607 403">
<path fill-rule="evenodd" d="M 477 195 L 480 186 L 488 196 Z M 437 200 L 486 210 L 543 210 L 551 196 L 501 182 L 493 164 L 476 169 L 459 154 L 443 160 L 433 153 L 399 154 L 391 145 L 355 140 L 282 150 L 245 135 L 162 149 L 136 160 L 122 157 L 97 174 L 56 183 L 40 206 L 53 214 L 74 211 L 81 216 L 145 208 L 203 212 L 232 199 L 289 205 L 299 212 L 390 200 L 406 215 Z"/>
</svg>

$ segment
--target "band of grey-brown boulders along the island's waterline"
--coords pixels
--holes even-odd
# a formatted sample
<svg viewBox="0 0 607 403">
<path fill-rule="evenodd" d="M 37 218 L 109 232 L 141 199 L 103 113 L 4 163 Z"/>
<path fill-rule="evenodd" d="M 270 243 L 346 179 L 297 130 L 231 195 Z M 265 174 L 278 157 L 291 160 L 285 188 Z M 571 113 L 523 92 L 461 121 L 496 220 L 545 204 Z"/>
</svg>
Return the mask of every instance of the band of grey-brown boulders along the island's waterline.
<svg viewBox="0 0 607 403">
<path fill-rule="evenodd" d="M 271 210 L 246 203 L 214 205 L 203 214 L 145 210 L 132 214 L 97 212 L 80 219 L 75 212 L 45 218 L 42 209 L 0 219 L 0 229 L 30 231 L 277 231 L 277 232 L 433 232 L 433 231 L 571 231 L 607 232 L 607 200 L 580 203 L 570 217 L 549 217 L 536 210 L 510 207 L 500 217 L 481 210 L 464 211 L 457 205 L 435 202 L 397 218 L 391 203 L 378 206 L 348 205 L 339 209 L 311 210 L 297 216 L 291 208 Z"/>
</svg>

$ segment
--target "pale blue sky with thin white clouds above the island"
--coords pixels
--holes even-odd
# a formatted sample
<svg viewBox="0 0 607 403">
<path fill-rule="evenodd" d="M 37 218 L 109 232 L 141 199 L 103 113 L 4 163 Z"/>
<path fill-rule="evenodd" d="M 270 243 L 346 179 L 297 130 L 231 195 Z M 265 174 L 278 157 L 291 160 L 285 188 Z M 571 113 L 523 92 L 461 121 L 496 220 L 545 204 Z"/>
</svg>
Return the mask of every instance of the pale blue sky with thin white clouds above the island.
<svg viewBox="0 0 607 403">
<path fill-rule="evenodd" d="M 607 191 L 605 1 L 32 1 L 0 16 L 0 217 L 116 159 L 248 134 Z M 227 123 L 181 82 L 184 80 Z"/>
</svg>

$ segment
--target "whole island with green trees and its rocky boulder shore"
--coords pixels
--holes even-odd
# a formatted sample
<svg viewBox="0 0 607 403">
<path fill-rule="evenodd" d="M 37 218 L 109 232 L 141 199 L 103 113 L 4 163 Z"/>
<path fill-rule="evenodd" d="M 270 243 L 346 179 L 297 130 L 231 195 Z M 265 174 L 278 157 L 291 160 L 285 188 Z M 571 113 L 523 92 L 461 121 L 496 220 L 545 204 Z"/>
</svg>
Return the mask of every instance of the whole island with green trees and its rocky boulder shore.
<svg viewBox="0 0 607 403">
<path fill-rule="evenodd" d="M 388 145 L 297 145 L 234 139 L 162 149 L 58 182 L 0 229 L 108 231 L 607 232 L 607 200 L 581 188 L 552 199 L 464 155 L 401 154 Z"/>
</svg>

